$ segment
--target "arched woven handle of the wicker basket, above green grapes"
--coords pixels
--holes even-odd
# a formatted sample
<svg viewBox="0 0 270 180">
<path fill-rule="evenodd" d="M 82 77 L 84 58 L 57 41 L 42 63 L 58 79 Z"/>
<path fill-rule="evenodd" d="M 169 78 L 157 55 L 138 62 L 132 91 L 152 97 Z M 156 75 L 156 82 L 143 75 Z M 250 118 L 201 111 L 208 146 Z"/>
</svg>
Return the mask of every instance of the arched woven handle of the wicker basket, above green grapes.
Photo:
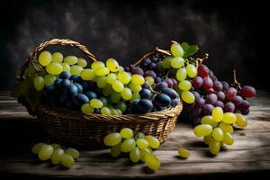
<svg viewBox="0 0 270 180">
<path fill-rule="evenodd" d="M 29 55 L 29 57 L 25 60 L 25 62 L 23 63 L 23 66 L 21 67 L 21 72 L 20 72 L 20 79 L 23 79 L 23 74 L 24 71 L 26 70 L 26 68 L 29 66 L 29 64 L 31 63 L 31 61 L 37 57 L 37 55 L 39 54 L 39 52 L 44 49 L 45 47 L 49 46 L 49 45 L 62 45 L 62 46 L 71 46 L 71 47 L 76 47 L 77 49 L 82 50 L 85 55 L 88 58 L 91 58 L 93 61 L 96 61 L 96 58 L 94 57 L 94 55 L 85 47 L 85 45 L 80 44 L 79 42 L 75 41 L 75 40 L 61 40 L 61 39 L 52 39 L 52 40 L 48 40 L 45 42 L 40 43 L 40 45 L 38 47 L 36 47 Z"/>
</svg>

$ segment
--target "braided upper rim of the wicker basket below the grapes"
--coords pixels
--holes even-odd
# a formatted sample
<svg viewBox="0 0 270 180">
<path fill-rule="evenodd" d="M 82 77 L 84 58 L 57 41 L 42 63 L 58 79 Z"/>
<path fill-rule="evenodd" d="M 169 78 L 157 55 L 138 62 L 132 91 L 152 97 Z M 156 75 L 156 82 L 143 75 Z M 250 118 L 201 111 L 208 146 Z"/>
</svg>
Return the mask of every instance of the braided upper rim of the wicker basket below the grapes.
<svg viewBox="0 0 270 180">
<path fill-rule="evenodd" d="M 40 104 L 37 109 L 37 118 L 43 118 L 46 115 L 61 116 L 70 120 L 78 121 L 96 121 L 96 122 L 149 122 L 160 121 L 166 118 L 173 118 L 179 115 L 183 110 L 183 103 L 180 100 L 175 107 L 158 112 L 147 112 L 142 114 L 124 114 L 124 115 L 103 115 L 98 113 L 85 114 L 83 112 L 76 112 L 67 108 L 53 108 L 46 104 Z M 46 115 L 45 115 L 46 114 Z"/>
</svg>

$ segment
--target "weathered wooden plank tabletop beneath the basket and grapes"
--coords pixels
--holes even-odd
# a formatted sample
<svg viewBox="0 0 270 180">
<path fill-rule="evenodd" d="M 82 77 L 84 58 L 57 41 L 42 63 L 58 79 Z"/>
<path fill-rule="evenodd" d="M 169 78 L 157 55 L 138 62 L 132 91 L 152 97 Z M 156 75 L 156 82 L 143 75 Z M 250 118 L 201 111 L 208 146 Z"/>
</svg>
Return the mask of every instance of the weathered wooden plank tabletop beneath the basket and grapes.
<svg viewBox="0 0 270 180">
<path fill-rule="evenodd" d="M 89 178 L 89 177 L 164 177 L 226 175 L 258 175 L 270 172 L 270 94 L 258 92 L 250 100 L 247 115 L 249 126 L 236 130 L 235 144 L 225 147 L 212 157 L 202 139 L 193 135 L 190 125 L 178 122 L 175 130 L 161 148 L 156 151 L 161 161 L 157 172 L 144 164 L 133 165 L 128 157 L 112 158 L 108 150 L 82 150 L 76 166 L 63 169 L 40 162 L 31 154 L 31 145 L 45 141 L 48 134 L 40 124 L 25 111 L 25 108 L 0 92 L 0 177 L 6 175 L 34 178 Z M 188 148 L 191 157 L 177 157 L 176 149 Z M 229 176 L 230 177 L 230 176 Z"/>
</svg>

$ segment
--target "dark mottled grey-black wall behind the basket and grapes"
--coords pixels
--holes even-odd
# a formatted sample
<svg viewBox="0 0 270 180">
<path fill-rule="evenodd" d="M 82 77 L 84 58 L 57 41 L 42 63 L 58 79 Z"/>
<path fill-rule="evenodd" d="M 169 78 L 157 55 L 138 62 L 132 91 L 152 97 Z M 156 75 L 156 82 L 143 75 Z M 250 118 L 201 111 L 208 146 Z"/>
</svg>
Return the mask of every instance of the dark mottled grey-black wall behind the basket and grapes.
<svg viewBox="0 0 270 180">
<path fill-rule="evenodd" d="M 122 66 L 169 40 L 198 44 L 220 79 L 268 87 L 268 9 L 264 1 L 1 1 L 0 90 L 14 85 L 23 60 L 40 42 L 68 38 L 101 60 Z"/>
</svg>

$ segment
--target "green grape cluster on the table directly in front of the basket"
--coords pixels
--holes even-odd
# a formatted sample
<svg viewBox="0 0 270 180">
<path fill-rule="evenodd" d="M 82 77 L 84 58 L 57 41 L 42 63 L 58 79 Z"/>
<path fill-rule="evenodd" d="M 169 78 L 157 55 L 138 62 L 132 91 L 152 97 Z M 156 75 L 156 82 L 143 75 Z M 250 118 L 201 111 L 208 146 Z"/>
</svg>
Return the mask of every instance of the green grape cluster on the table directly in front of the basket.
<svg viewBox="0 0 270 180">
<path fill-rule="evenodd" d="M 145 162 L 150 169 L 157 170 L 160 166 L 159 159 L 153 153 L 152 148 L 159 148 L 157 138 L 137 132 L 134 136 L 133 130 L 123 128 L 120 132 L 113 132 L 105 136 L 103 142 L 111 147 L 112 157 L 119 157 L 121 152 L 129 153 L 130 161 L 138 163 Z"/>
</svg>

